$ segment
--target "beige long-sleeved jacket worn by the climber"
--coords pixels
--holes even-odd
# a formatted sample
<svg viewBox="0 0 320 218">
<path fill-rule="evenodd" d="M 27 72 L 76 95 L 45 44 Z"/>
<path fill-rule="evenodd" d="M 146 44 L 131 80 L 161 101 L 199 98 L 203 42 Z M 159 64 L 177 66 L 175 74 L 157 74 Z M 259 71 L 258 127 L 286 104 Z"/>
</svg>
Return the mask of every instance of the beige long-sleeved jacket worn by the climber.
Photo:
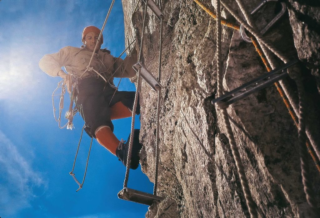
<svg viewBox="0 0 320 218">
<path fill-rule="evenodd" d="M 92 51 L 89 51 L 85 47 L 76 48 L 67 46 L 60 49 L 57 53 L 45 55 L 40 60 L 39 67 L 52 77 L 58 76 L 58 72 L 63 66 L 69 75 L 82 76 L 87 69 L 91 56 Z M 105 79 L 108 79 L 112 83 L 113 77 L 131 78 L 135 76 L 136 72 L 132 69 L 132 65 L 136 64 L 136 61 L 136 52 L 122 60 L 110 55 L 108 50 L 100 49 L 98 53 L 94 54 L 91 67 L 106 76 Z M 114 75 L 112 76 L 113 73 Z M 97 76 L 97 73 L 87 71 L 82 78 L 92 76 Z"/>
</svg>

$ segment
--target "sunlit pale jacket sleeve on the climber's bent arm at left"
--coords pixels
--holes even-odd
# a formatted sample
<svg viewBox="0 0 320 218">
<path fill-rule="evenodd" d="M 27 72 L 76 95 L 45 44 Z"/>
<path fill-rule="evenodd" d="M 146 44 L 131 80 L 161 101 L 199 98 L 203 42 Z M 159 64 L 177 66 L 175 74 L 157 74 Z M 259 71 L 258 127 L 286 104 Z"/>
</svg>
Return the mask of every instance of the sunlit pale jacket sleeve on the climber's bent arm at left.
<svg viewBox="0 0 320 218">
<path fill-rule="evenodd" d="M 57 53 L 44 55 L 39 61 L 39 67 L 49 76 L 56 77 L 61 67 L 68 65 L 69 57 L 70 49 L 67 46 L 60 49 Z"/>
</svg>

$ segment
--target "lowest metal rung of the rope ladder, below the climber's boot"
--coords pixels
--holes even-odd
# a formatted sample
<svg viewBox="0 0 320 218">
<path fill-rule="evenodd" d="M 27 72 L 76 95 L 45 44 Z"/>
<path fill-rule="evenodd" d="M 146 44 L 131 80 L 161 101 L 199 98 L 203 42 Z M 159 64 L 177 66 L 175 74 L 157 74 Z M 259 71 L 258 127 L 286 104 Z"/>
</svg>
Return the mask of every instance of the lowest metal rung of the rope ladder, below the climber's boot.
<svg viewBox="0 0 320 218">
<path fill-rule="evenodd" d="M 118 198 L 151 206 L 153 202 L 160 202 L 164 198 L 138 190 L 124 188 L 118 193 Z"/>
</svg>

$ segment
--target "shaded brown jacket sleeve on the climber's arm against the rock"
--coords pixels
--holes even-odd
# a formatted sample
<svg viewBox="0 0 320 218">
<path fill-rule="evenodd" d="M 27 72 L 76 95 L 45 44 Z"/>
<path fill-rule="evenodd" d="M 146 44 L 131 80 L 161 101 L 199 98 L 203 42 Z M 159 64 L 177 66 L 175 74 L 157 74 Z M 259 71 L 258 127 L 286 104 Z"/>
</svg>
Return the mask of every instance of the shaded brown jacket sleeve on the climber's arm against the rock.
<svg viewBox="0 0 320 218">
<path fill-rule="evenodd" d="M 136 75 L 136 71 L 132 68 L 133 64 L 137 63 L 137 53 L 132 52 L 130 56 L 126 56 L 124 60 L 115 57 L 115 64 L 113 69 L 115 70 L 114 77 L 131 78 Z"/>
</svg>

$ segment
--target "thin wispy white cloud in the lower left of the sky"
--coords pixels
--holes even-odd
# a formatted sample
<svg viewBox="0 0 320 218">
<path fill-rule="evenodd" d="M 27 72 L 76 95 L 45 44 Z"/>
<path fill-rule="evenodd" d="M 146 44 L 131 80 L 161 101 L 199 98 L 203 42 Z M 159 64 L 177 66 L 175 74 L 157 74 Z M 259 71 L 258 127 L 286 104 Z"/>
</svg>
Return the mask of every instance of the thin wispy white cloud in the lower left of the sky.
<svg viewBox="0 0 320 218">
<path fill-rule="evenodd" d="M 44 192 L 47 185 L 1 131 L 0 151 L 0 211 L 2 216 L 9 216 L 30 207 L 37 197 L 34 190 Z"/>
</svg>

